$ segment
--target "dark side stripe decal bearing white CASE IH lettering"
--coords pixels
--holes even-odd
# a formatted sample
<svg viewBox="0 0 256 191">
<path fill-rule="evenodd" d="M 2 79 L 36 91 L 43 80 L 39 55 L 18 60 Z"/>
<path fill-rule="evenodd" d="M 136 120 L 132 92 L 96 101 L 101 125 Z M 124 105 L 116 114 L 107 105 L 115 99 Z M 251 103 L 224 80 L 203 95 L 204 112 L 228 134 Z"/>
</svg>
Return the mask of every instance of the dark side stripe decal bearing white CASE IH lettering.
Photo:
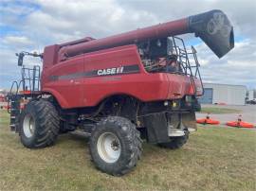
<svg viewBox="0 0 256 191">
<path fill-rule="evenodd" d="M 105 68 L 99 70 L 92 70 L 88 72 L 78 72 L 62 76 L 50 76 L 49 80 L 56 81 L 60 79 L 73 79 L 73 78 L 90 78 L 90 77 L 102 77 L 102 76 L 114 76 L 114 75 L 124 75 L 124 74 L 135 74 L 139 73 L 139 67 L 137 64 L 124 65 L 114 68 Z"/>
</svg>

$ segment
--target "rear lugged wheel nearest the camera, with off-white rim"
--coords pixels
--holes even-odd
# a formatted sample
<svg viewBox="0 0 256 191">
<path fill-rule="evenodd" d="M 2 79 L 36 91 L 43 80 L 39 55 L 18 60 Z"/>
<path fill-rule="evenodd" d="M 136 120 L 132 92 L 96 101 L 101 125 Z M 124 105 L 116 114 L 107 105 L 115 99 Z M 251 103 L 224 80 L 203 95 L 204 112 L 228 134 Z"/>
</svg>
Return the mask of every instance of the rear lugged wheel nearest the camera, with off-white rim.
<svg viewBox="0 0 256 191">
<path fill-rule="evenodd" d="M 90 154 L 101 171 L 121 176 L 137 165 L 141 139 L 136 126 L 128 119 L 109 116 L 92 131 Z"/>
</svg>

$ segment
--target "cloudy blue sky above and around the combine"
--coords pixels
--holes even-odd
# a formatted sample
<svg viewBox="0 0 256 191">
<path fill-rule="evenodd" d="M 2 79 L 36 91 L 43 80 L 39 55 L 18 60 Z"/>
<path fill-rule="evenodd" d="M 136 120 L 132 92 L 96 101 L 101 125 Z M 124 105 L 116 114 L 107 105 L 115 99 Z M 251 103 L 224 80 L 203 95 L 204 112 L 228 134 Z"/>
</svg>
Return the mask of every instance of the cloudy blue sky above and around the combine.
<svg viewBox="0 0 256 191">
<path fill-rule="evenodd" d="M 191 1 L 190 1 L 191 2 Z M 199 39 L 186 36 L 196 45 L 201 74 L 206 82 L 256 87 L 255 3 L 246 1 L 194 0 L 159 1 L 0 1 L 0 89 L 20 78 L 16 52 L 43 51 L 52 43 L 85 36 L 102 38 L 137 27 L 152 26 L 210 9 L 224 10 L 235 33 L 235 48 L 219 60 Z M 238 11 L 239 9 L 239 11 Z M 27 59 L 25 64 L 38 63 Z"/>
</svg>

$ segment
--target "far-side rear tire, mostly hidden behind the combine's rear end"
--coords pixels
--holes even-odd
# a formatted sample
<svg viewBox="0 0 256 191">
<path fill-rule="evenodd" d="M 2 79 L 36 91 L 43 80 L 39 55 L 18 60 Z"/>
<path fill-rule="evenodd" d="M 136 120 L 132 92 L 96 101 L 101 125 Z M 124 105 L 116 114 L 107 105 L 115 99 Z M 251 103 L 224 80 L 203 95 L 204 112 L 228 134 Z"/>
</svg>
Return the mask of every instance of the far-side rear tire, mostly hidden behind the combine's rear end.
<svg viewBox="0 0 256 191">
<path fill-rule="evenodd" d="M 168 143 L 160 143 L 158 145 L 162 148 L 177 149 L 182 148 L 182 146 L 187 143 L 188 139 L 189 133 L 186 133 L 184 136 L 170 138 L 170 142 Z"/>
</svg>

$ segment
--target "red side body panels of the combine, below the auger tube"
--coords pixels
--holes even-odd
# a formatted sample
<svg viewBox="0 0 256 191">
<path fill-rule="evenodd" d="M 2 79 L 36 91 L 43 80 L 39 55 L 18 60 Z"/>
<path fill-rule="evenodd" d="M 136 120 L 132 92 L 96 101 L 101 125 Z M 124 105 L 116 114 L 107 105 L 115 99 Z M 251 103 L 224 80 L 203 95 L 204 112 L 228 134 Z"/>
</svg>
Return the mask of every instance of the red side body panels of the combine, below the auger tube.
<svg viewBox="0 0 256 191">
<path fill-rule="evenodd" d="M 51 81 L 50 76 L 88 72 L 138 64 L 139 73 L 93 78 L 69 78 Z M 107 96 L 135 96 L 141 101 L 181 98 L 192 95 L 191 79 L 187 76 L 167 73 L 147 73 L 140 61 L 136 45 L 125 45 L 83 54 L 62 61 L 52 67 L 44 67 L 42 91 L 55 96 L 63 108 L 95 106 Z M 195 80 L 197 87 L 199 80 Z"/>
</svg>

